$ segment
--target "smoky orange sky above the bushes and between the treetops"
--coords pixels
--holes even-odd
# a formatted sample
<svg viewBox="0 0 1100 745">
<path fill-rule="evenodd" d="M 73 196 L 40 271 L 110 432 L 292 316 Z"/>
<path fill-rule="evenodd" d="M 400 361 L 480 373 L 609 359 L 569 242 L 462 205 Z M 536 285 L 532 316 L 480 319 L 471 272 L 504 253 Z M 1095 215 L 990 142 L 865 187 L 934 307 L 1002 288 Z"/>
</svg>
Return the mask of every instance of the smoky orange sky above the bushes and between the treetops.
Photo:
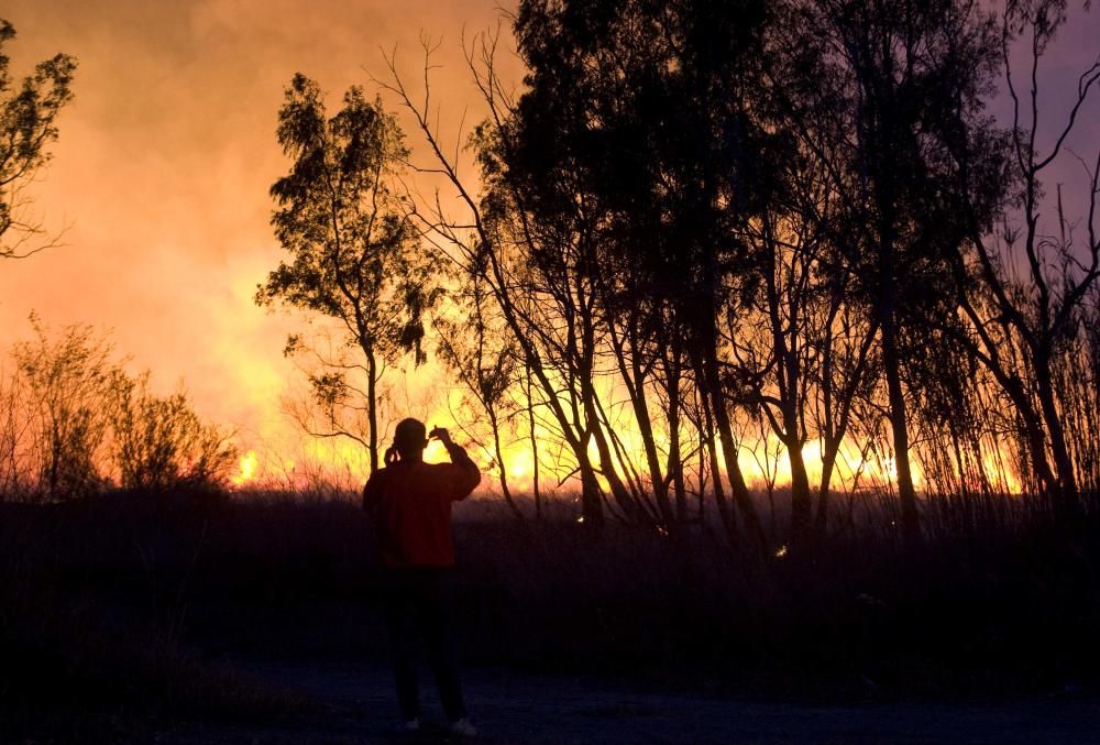
<svg viewBox="0 0 1100 745">
<path fill-rule="evenodd" d="M 499 4 L 8 0 L 0 15 L 18 32 L 9 45 L 16 75 L 59 51 L 79 69 L 35 188 L 46 226 L 67 226 L 64 245 L 0 264 L 0 349 L 30 336 L 32 309 L 54 328 L 92 324 L 110 330 L 132 366 L 151 369 L 161 391 L 182 382 L 199 413 L 235 427 L 244 448 L 288 436 L 280 397 L 300 376 L 282 350 L 299 324 L 252 299 L 282 258 L 268 187 L 287 167 L 274 134 L 283 89 L 301 72 L 334 109 L 348 86 L 370 90 L 370 73 L 385 73 L 382 50 L 395 48 L 419 84 L 425 32 L 441 42 L 433 96 L 453 141 L 464 112 L 468 125 L 480 117 L 461 34 L 496 26 Z M 1041 101 L 1041 144 L 1055 131 L 1047 111 L 1065 110 L 1098 39 L 1100 11 L 1075 13 L 1045 63 L 1041 81 L 1053 87 Z M 501 63 L 505 79 L 519 79 L 514 56 Z M 1004 117 L 1005 103 L 1002 96 L 993 111 Z M 1097 103 L 1069 142 L 1082 155 L 1100 146 Z M 420 146 L 411 132 L 409 144 Z M 1069 185 L 1067 209 L 1080 217 L 1079 165 L 1067 161 L 1055 180 Z"/>
</svg>

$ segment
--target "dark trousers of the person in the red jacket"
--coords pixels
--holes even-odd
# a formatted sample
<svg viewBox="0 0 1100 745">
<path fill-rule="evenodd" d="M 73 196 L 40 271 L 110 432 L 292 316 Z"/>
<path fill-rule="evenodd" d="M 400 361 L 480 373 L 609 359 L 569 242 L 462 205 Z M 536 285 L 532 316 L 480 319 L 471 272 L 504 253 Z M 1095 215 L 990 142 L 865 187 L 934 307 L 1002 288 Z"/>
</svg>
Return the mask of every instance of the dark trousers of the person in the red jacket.
<svg viewBox="0 0 1100 745">
<path fill-rule="evenodd" d="M 424 645 L 443 713 L 451 722 L 466 715 L 459 686 L 450 611 L 451 570 L 437 567 L 391 569 L 386 581 L 386 623 L 397 701 L 406 722 L 420 716 L 417 650 Z"/>
</svg>

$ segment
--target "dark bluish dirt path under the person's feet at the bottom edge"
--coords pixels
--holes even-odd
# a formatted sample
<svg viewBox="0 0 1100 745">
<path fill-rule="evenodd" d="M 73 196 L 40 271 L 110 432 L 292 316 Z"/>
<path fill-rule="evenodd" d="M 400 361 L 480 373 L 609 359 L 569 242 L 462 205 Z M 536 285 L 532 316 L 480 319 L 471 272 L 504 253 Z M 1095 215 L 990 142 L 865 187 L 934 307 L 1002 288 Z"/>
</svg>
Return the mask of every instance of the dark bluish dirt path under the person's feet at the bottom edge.
<svg viewBox="0 0 1100 745">
<path fill-rule="evenodd" d="M 327 715 L 295 726 L 213 727 L 178 743 L 446 742 L 438 725 L 395 736 L 389 672 L 378 666 L 248 664 L 255 678 L 318 701 Z M 1100 701 L 1011 704 L 765 704 L 636 692 L 594 681 L 473 670 L 465 676 L 480 743 L 1100 743 Z M 433 690 L 428 720 L 441 719 Z"/>
</svg>

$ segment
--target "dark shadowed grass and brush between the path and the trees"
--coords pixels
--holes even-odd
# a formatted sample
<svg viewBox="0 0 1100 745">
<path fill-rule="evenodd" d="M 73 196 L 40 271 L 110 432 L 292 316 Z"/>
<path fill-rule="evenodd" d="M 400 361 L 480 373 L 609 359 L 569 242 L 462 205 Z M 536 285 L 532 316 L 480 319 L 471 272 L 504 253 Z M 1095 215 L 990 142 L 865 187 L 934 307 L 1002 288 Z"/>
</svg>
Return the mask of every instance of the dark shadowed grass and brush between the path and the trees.
<svg viewBox="0 0 1100 745">
<path fill-rule="evenodd" d="M 516 525 L 501 503 L 460 505 L 466 666 L 770 700 L 1100 682 L 1100 541 L 1067 540 L 1019 501 L 977 533 L 923 505 L 943 529 L 916 548 L 869 504 L 801 562 L 730 549 L 721 525 L 596 533 L 548 506 Z M 380 567 L 354 500 L 114 492 L 0 511 L 7 731 L 294 717 L 308 702 L 233 662 L 384 659 Z"/>
</svg>

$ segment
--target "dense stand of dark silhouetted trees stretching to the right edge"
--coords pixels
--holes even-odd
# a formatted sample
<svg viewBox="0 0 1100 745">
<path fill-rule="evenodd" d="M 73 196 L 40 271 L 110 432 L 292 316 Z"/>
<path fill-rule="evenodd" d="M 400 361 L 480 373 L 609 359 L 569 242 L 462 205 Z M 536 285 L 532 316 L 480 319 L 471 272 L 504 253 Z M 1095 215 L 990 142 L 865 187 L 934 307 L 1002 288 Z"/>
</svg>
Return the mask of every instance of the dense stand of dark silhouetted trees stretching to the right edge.
<svg viewBox="0 0 1100 745">
<path fill-rule="evenodd" d="M 362 110 L 354 90 L 323 157 L 287 151 L 292 175 L 332 209 L 294 234 L 278 212 L 284 245 L 296 266 L 310 255 L 314 286 L 351 288 L 355 303 L 284 299 L 404 349 L 429 317 L 509 503 L 509 453 L 529 447 L 535 504 L 540 472 L 575 478 L 591 524 L 671 532 L 713 496 L 734 540 L 763 545 L 758 474 L 745 469 L 756 460 L 771 493 L 780 459 L 794 544 L 829 529 L 838 492 L 868 486 L 908 540 L 921 534 L 919 491 L 970 522 L 1021 492 L 1077 524 L 1100 506 L 1100 161 L 1085 157 L 1065 200 L 1044 178 L 1079 156 L 1066 141 L 1100 68 L 1082 70 L 1066 110 L 1040 112 L 1037 88 L 1016 80 L 1032 61 L 1043 68 L 1078 12 L 1049 0 L 999 12 L 959 0 L 521 2 L 518 94 L 497 76 L 499 34 L 465 48 L 488 109 L 470 139 L 477 178 L 443 142 L 430 90 L 393 59 L 382 87 L 415 117 L 429 158 L 411 171 L 452 194 L 409 190 L 404 144 L 371 162 L 370 188 L 324 191 L 355 184 L 365 163 L 346 125 Z M 1030 52 L 1023 73 L 1009 64 L 1016 50 Z M 431 52 L 426 42 L 426 70 Z M 997 96 L 1014 105 L 1011 125 L 988 112 Z M 282 121 L 299 98 L 296 84 Z M 392 128 L 375 106 L 371 121 Z M 323 109 L 312 114 L 321 128 Z M 1053 122 L 1042 136 L 1036 118 Z M 310 171 L 322 162 L 326 178 Z M 273 187 L 284 205 L 287 183 Z M 343 222 L 322 224 L 333 216 Z M 376 223 L 419 231 L 406 250 L 447 271 L 405 295 L 364 274 L 386 271 L 371 263 L 385 255 L 377 239 L 355 234 Z M 371 331 L 364 310 L 394 302 L 406 315 L 388 337 Z M 361 398 L 346 362 L 329 370 L 315 387 L 341 431 L 340 405 Z"/>
</svg>

